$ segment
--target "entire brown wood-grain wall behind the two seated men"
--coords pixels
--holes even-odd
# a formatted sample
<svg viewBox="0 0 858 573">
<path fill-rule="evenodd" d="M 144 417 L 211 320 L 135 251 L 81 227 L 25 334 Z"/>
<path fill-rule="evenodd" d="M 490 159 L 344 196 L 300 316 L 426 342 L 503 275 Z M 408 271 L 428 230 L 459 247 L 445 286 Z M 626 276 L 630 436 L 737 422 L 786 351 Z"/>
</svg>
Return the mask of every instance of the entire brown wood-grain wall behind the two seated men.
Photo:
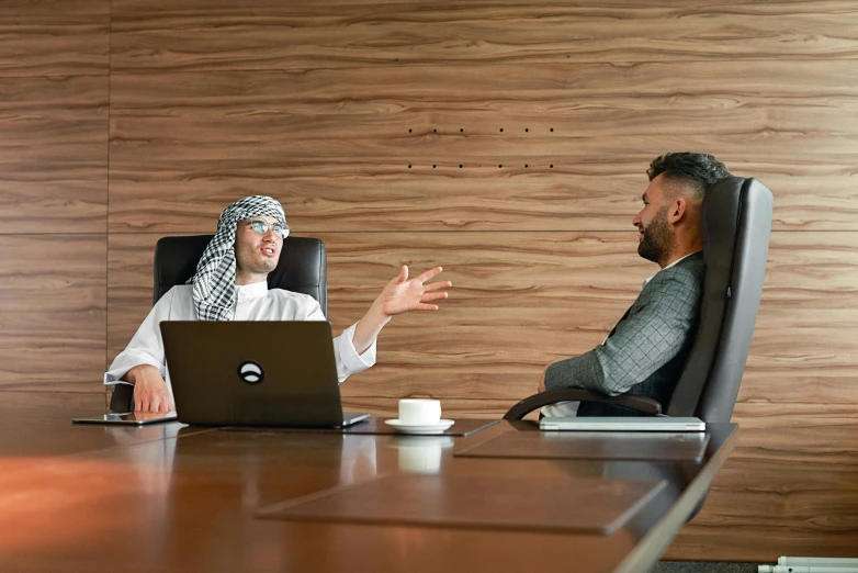
<svg viewBox="0 0 858 573">
<path fill-rule="evenodd" d="M 776 233 L 741 445 L 668 557 L 854 557 L 856 21 L 847 0 L 2 2 L 0 390 L 101 392 L 155 240 L 264 193 L 326 241 L 337 329 L 400 263 L 454 282 L 385 328 L 347 406 L 497 418 L 654 270 L 631 226 L 650 160 L 705 150 L 774 191 Z"/>
</svg>

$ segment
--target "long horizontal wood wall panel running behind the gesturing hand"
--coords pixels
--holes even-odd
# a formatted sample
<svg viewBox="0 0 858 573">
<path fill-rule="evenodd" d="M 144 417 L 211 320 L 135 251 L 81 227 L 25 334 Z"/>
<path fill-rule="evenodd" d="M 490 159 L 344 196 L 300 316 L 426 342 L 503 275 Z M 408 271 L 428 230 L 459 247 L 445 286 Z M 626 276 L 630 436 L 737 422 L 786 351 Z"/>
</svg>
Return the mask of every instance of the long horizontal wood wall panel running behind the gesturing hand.
<svg viewBox="0 0 858 573">
<path fill-rule="evenodd" d="M 335 330 L 360 319 L 403 263 L 453 281 L 438 313 L 394 318 L 354 397 L 517 401 L 551 361 L 599 344 L 656 268 L 620 233 L 317 234 Z M 110 239 L 110 358 L 150 307 L 153 234 Z M 851 233 L 775 233 L 741 402 L 858 403 L 858 249 Z M 797 256 L 801 254 L 801 256 Z M 836 266 L 833 265 L 837 260 Z M 836 279 L 832 277 L 836 276 Z"/>
</svg>

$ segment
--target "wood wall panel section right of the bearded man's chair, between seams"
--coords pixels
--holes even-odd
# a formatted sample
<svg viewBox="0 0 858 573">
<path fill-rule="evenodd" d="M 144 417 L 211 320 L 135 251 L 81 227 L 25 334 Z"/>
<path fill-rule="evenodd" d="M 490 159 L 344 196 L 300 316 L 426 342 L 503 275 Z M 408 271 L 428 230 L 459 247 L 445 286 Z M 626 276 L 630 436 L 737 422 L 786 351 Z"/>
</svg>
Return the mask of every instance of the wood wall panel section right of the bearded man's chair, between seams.
<svg viewBox="0 0 858 573">
<path fill-rule="evenodd" d="M 775 233 L 767 271 L 740 401 L 858 407 L 856 234 Z"/>
</svg>

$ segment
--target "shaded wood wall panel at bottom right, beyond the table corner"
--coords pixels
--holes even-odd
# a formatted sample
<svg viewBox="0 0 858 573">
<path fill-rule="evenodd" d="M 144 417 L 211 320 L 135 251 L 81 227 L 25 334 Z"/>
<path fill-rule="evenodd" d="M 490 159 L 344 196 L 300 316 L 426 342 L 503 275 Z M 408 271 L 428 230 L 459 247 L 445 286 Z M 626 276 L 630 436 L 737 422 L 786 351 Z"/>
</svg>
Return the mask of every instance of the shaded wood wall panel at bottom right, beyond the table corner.
<svg viewBox="0 0 858 573">
<path fill-rule="evenodd" d="M 855 400 L 738 404 L 740 445 L 702 512 L 665 557 L 756 562 L 784 553 L 855 557 L 857 420 Z"/>
</svg>

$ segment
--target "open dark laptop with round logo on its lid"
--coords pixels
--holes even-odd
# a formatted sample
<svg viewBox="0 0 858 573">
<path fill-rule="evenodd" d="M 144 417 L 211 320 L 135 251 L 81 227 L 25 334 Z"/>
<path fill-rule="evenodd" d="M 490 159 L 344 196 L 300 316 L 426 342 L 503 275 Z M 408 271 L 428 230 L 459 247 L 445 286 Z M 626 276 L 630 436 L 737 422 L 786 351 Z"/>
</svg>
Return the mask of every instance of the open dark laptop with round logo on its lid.
<svg viewBox="0 0 858 573">
<path fill-rule="evenodd" d="M 342 427 L 327 322 L 160 324 L 179 422 L 216 426 Z"/>
</svg>

